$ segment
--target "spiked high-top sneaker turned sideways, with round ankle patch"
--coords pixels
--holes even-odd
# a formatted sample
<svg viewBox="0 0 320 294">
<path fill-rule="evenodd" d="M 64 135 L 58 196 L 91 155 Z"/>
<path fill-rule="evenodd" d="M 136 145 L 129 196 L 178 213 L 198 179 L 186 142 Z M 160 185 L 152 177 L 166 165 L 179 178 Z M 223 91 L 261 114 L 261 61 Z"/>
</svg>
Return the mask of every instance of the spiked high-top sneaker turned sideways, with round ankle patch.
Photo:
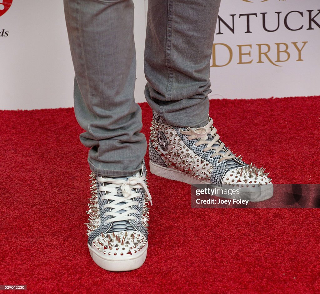
<svg viewBox="0 0 320 294">
<path fill-rule="evenodd" d="M 273 195 L 271 179 L 264 168 L 243 162 L 220 141 L 217 130 L 174 127 L 153 112 L 149 143 L 150 172 L 188 184 L 208 184 L 224 198 L 263 201 Z M 239 193 L 228 193 L 231 189 Z M 228 190 L 228 191 L 227 191 Z"/>
</svg>

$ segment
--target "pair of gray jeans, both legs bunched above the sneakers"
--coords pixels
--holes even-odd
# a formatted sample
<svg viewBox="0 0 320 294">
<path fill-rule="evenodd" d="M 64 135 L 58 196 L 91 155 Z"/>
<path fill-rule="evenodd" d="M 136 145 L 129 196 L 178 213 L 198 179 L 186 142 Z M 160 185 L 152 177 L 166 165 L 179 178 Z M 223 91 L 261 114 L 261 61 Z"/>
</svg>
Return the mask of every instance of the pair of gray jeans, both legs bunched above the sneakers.
<svg viewBox="0 0 320 294">
<path fill-rule="evenodd" d="M 145 96 L 173 126 L 204 125 L 209 69 L 220 0 L 149 0 Z M 147 142 L 133 93 L 136 56 L 131 0 L 64 0 L 75 69 L 74 107 L 86 131 L 92 171 L 129 176 L 141 168 Z"/>
</svg>

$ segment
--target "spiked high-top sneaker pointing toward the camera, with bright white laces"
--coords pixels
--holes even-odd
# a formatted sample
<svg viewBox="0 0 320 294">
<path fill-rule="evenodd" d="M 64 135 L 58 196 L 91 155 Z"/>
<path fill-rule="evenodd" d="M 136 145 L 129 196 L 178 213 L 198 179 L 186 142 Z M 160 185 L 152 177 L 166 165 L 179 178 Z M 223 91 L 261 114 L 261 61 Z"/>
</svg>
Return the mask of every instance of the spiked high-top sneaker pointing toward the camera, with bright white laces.
<svg viewBox="0 0 320 294">
<path fill-rule="evenodd" d="M 88 247 L 94 262 L 108 271 L 139 268 L 147 257 L 148 201 L 144 160 L 129 177 L 91 174 Z"/>
</svg>

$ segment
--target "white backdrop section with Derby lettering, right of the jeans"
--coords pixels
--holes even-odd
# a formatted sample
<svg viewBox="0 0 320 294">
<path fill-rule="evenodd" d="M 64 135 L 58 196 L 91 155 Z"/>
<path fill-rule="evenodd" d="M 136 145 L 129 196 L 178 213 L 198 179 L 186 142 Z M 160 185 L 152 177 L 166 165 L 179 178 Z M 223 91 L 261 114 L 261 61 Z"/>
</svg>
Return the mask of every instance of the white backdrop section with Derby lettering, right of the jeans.
<svg viewBox="0 0 320 294">
<path fill-rule="evenodd" d="M 309 28 L 309 12 L 313 10 L 311 17 L 320 11 L 319 0 L 221 0 L 219 16 L 232 28 L 232 17 L 234 16 L 234 34 L 223 24 L 220 24 L 220 32 L 216 34 L 214 43 L 228 45 L 233 53 L 230 64 L 224 67 L 211 68 L 212 93 L 209 97 L 223 98 L 268 98 L 285 96 L 308 96 L 320 95 L 320 25 L 312 22 Z M 319 10 L 319 11 L 318 11 Z M 298 12 L 302 13 L 302 16 Z M 262 26 L 262 14 L 265 14 L 265 27 L 268 30 L 277 28 L 277 14 L 279 12 L 280 25 L 275 32 L 267 32 Z M 291 13 L 289 13 L 291 12 Z M 240 14 L 256 13 L 257 16 L 249 16 L 250 31 L 247 31 L 247 16 Z M 288 14 L 289 13 L 289 14 Z M 286 17 L 286 15 L 288 15 Z M 297 31 L 290 29 L 302 29 Z M 320 14 L 314 21 L 320 24 Z M 219 33 L 217 25 L 216 33 Z M 302 48 L 302 42 L 308 42 L 301 50 L 301 59 L 298 60 L 298 51 L 292 44 Z M 277 45 L 275 43 L 286 43 L 290 59 L 285 62 L 277 61 Z M 261 56 L 263 63 L 259 61 L 259 46 L 261 52 L 266 52 L 270 46 L 268 57 L 274 64 L 270 63 L 265 55 Z M 226 45 L 216 45 L 216 64 L 224 65 L 229 61 L 230 53 Z M 239 63 L 239 47 L 242 53 L 251 52 L 251 56 L 243 55 Z M 279 45 L 280 50 L 286 49 L 285 44 Z M 280 60 L 286 60 L 287 53 L 280 53 Z"/>
</svg>

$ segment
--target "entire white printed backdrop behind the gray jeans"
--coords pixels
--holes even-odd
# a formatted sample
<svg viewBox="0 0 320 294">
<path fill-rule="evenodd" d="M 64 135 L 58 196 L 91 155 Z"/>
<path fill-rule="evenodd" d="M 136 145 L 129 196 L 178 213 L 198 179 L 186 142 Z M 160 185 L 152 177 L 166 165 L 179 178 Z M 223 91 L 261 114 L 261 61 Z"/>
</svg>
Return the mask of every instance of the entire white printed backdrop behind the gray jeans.
<svg viewBox="0 0 320 294">
<path fill-rule="evenodd" d="M 217 26 L 215 54 L 211 65 L 211 98 L 266 98 L 271 96 L 304 96 L 320 94 L 320 9 L 319 0 L 222 0 L 220 7 L 220 34 Z M 146 0 L 135 3 L 135 42 L 137 51 L 137 81 L 135 98 L 145 101 L 143 91 L 146 80 L 143 73 L 143 50 L 146 25 Z M 313 10 L 308 12 L 307 10 Z M 303 16 L 298 12 L 300 11 Z M 275 32 L 266 32 L 262 26 L 262 14 L 267 12 L 266 28 L 276 29 L 277 14 L 281 12 L 280 26 Z M 247 31 L 247 16 L 250 31 Z M 311 13 L 311 20 L 309 19 Z M 234 26 L 232 16 L 234 16 Z M 287 26 L 284 18 L 288 14 Z M 312 17 L 314 19 L 312 20 Z M 228 24 L 226 27 L 223 21 Z M 309 28 L 311 21 L 311 28 Z M 59 1 L 13 0 L 10 9 L 0 16 L 0 109 L 41 109 L 70 107 L 73 104 L 73 66 L 69 52 L 63 3 Z M 301 48 L 301 58 L 292 44 Z M 288 44 L 290 59 L 277 61 L 277 45 Z M 267 45 L 257 45 L 267 44 Z M 239 45 L 242 46 L 242 62 L 239 64 Z M 261 55 L 259 61 L 259 46 Z M 285 44 L 279 49 L 284 50 Z M 230 59 L 232 52 L 232 59 Z M 245 53 L 249 53 L 248 54 Z M 288 53 L 279 53 L 285 60 Z M 273 64 L 268 61 L 268 58 Z M 230 60 L 228 65 L 225 65 Z M 280 66 L 276 66 L 276 65 Z M 225 65 L 225 66 L 221 66 Z"/>
</svg>

